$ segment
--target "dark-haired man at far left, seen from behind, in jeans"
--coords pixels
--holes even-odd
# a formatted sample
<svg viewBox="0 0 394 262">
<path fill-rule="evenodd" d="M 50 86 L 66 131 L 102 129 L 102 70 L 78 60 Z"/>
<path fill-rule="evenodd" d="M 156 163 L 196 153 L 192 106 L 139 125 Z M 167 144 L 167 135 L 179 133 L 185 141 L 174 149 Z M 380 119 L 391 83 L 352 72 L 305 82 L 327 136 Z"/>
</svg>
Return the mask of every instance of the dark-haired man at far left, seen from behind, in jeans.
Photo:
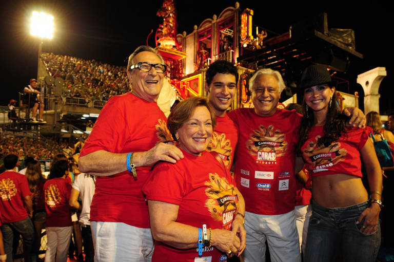
<svg viewBox="0 0 394 262">
<path fill-rule="evenodd" d="M 34 227 L 30 220 L 33 215 L 31 192 L 27 178 L 15 172 L 17 161 L 16 155 L 7 155 L 4 158 L 6 171 L 0 174 L 0 213 L 4 250 L 7 254 L 7 262 L 12 261 L 13 232 L 16 231 L 24 240 L 25 260 L 36 261 Z"/>
</svg>

